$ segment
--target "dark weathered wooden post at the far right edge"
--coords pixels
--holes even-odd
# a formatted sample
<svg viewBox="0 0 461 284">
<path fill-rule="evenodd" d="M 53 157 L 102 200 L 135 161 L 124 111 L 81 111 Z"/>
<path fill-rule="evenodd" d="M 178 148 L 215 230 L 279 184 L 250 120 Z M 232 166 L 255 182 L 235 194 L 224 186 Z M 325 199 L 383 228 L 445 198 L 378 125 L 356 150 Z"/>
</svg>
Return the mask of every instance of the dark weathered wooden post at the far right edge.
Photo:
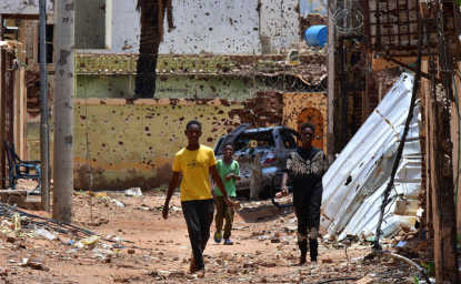
<svg viewBox="0 0 461 284">
<path fill-rule="evenodd" d="M 459 283 L 457 222 L 453 196 L 453 164 L 451 161 L 450 110 L 435 90 L 435 74 L 440 69 L 437 60 L 430 61 L 431 95 L 429 101 L 429 118 L 431 134 L 428 141 L 430 148 L 430 168 L 432 185 L 432 212 L 434 227 L 434 258 L 437 283 Z M 450 90 L 445 90 L 450 91 Z"/>
</svg>

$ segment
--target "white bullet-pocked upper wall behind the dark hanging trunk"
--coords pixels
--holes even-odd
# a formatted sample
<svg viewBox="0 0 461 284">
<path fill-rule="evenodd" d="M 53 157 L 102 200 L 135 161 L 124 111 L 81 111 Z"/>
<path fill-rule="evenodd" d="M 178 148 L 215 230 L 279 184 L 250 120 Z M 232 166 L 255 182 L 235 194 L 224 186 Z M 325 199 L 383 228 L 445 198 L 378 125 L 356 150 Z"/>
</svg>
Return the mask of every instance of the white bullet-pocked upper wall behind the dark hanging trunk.
<svg viewBox="0 0 461 284">
<path fill-rule="evenodd" d="M 137 0 L 111 0 L 112 31 L 110 50 L 97 52 L 139 52 L 140 23 Z M 166 34 L 160 53 L 257 54 L 261 41 L 274 40 L 289 45 L 299 39 L 299 0 L 284 0 L 283 28 L 280 24 L 281 0 L 261 0 L 261 20 L 255 0 L 173 0 L 177 27 Z M 107 10 L 107 12 L 109 12 Z M 283 34 L 280 36 L 280 30 Z M 294 33 L 294 34 L 293 34 Z M 261 36 L 262 37 L 261 37 Z M 265 44 L 265 43 L 264 43 Z"/>
</svg>

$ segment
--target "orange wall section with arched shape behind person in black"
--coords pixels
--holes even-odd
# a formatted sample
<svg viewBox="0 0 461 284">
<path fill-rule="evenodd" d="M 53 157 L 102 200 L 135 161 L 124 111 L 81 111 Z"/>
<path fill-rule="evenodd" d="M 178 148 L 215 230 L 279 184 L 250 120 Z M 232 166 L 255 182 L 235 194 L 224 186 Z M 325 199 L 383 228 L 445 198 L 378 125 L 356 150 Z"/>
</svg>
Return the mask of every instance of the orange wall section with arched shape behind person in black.
<svg viewBox="0 0 461 284">
<path fill-rule="evenodd" d="M 327 93 L 284 93 L 283 124 L 299 131 L 302 122 L 317 125 L 313 145 L 327 153 Z"/>
</svg>

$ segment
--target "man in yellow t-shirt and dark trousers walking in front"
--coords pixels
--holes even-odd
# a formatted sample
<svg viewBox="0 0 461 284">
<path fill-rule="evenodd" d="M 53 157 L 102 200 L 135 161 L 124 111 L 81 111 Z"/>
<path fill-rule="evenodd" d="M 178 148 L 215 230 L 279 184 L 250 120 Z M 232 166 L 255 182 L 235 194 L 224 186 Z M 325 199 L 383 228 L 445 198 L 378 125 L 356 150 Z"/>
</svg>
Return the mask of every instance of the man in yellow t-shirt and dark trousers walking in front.
<svg viewBox="0 0 461 284">
<path fill-rule="evenodd" d="M 198 121 L 190 121 L 186 126 L 188 146 L 179 151 L 174 156 L 173 176 L 168 187 L 167 199 L 163 205 L 162 216 L 168 219 L 168 210 L 171 196 L 178 185 L 179 174 L 182 172 L 181 206 L 188 225 L 189 239 L 192 246 L 193 260 L 190 266 L 191 273 L 199 277 L 204 276 L 203 251 L 210 239 L 210 226 L 213 222 L 214 201 L 211 195 L 209 173 L 211 172 L 218 187 L 226 189 L 221 175 L 217 170 L 217 160 L 211 148 L 200 145 L 202 125 Z M 224 201 L 233 206 L 226 190 L 221 190 Z"/>
</svg>

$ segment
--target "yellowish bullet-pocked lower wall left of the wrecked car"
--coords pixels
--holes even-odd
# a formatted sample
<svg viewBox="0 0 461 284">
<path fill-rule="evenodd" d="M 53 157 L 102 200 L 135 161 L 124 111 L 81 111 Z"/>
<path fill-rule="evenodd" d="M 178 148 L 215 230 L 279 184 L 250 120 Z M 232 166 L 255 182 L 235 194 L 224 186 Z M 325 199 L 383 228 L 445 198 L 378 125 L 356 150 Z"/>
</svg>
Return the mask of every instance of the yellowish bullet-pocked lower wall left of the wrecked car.
<svg viewBox="0 0 461 284">
<path fill-rule="evenodd" d="M 74 106 L 74 187 L 89 189 L 91 169 L 94 191 L 167 184 L 174 153 L 187 145 L 188 121 L 202 122 L 200 141 L 213 146 L 240 124 L 238 115 L 231 119 L 228 113 L 243 108 L 226 106 L 219 100 L 197 104 L 168 99 L 137 100 L 133 104 L 117 99 L 91 99 L 87 104 L 76 100 Z"/>
</svg>

